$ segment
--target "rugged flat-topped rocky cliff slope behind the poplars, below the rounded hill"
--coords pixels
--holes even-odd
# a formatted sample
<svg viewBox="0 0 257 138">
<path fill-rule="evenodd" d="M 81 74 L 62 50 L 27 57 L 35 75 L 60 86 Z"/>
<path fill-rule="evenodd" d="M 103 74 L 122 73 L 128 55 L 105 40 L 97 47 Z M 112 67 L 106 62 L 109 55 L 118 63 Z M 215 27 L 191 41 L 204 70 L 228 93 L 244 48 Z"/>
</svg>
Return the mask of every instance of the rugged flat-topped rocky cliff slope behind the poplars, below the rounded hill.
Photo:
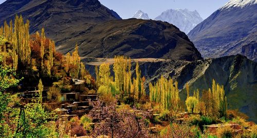
<svg viewBox="0 0 257 138">
<path fill-rule="evenodd" d="M 242 55 L 208 58 L 193 62 L 179 60 L 162 60 L 154 58 L 134 59 L 139 62 L 142 75 L 146 77 L 145 88 L 163 75 L 172 77 L 178 82 L 181 100 L 186 100 L 185 85 L 189 83 L 191 94 L 197 88 L 206 90 L 211 88 L 212 79 L 224 85 L 229 109 L 239 109 L 249 115 L 250 120 L 257 122 L 256 91 L 257 91 L 257 63 Z M 95 75 L 95 66 L 102 63 L 113 64 L 113 59 L 83 58 L 90 74 Z M 135 73 L 135 71 L 133 71 Z M 112 73 L 112 72 L 111 72 Z M 134 74 L 135 75 L 135 74 Z"/>
</svg>

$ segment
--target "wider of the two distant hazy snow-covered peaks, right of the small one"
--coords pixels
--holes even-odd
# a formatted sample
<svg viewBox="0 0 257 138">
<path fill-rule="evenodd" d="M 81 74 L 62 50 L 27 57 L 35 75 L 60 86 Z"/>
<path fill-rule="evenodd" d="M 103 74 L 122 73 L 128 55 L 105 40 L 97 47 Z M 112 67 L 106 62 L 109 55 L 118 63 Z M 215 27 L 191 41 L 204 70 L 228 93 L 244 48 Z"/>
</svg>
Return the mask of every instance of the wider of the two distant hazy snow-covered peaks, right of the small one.
<svg viewBox="0 0 257 138">
<path fill-rule="evenodd" d="M 188 9 L 170 9 L 162 12 L 155 18 L 155 20 L 171 23 L 187 34 L 196 25 L 201 23 L 203 18 L 201 18 L 196 10 L 189 11 Z"/>
</svg>

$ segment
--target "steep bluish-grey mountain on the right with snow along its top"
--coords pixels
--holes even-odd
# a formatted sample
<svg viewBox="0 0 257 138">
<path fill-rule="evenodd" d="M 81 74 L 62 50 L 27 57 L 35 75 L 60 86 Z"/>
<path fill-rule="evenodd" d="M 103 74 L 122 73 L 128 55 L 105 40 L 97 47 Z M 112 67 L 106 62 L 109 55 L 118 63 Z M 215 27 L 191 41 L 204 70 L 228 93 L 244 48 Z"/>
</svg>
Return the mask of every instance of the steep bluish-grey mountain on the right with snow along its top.
<svg viewBox="0 0 257 138">
<path fill-rule="evenodd" d="M 231 0 L 188 34 L 204 57 L 237 53 L 257 61 L 257 0 Z"/>
</svg>

